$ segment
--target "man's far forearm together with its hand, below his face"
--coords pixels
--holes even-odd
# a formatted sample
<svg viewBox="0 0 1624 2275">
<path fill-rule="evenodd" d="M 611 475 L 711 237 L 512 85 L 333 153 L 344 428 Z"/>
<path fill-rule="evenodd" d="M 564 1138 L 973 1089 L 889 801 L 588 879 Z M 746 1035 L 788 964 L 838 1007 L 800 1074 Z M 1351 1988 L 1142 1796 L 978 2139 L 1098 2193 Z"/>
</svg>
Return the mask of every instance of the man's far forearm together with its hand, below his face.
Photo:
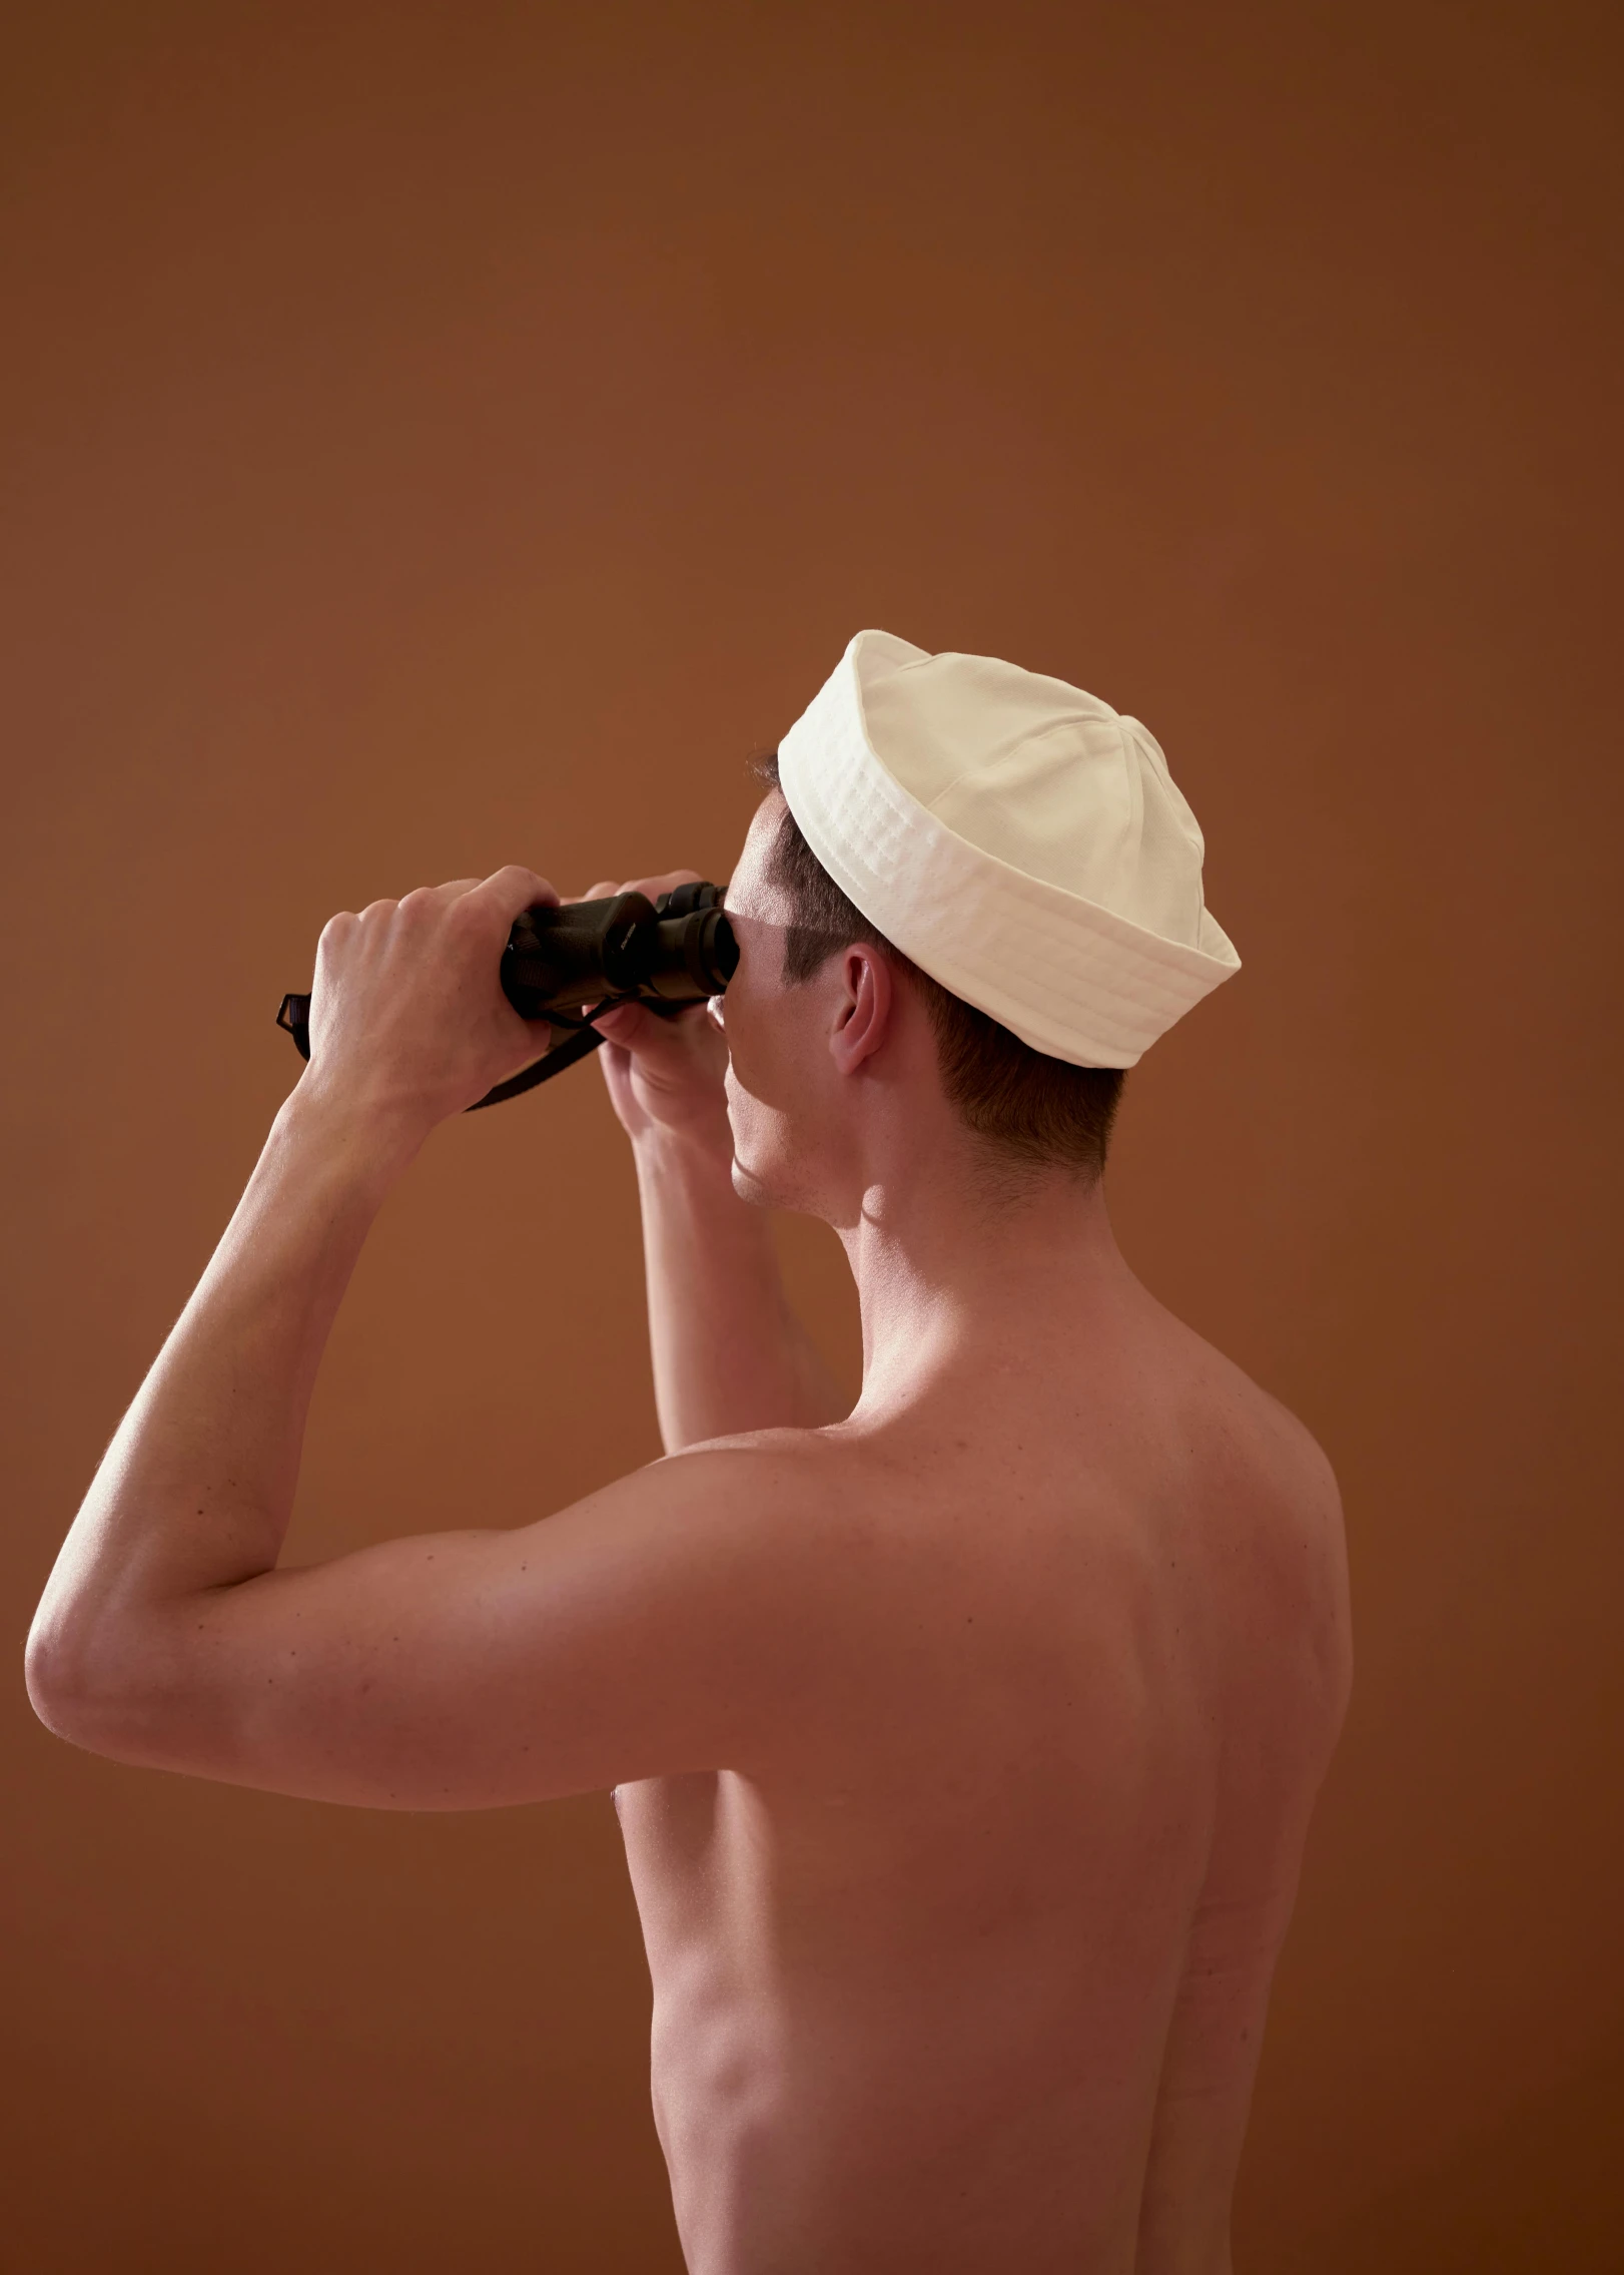
<svg viewBox="0 0 1624 2275">
<path fill-rule="evenodd" d="M 607 892 L 664 892 L 682 876 Z M 723 1074 L 728 1044 L 707 1010 L 603 1021 L 598 1053 L 632 1140 L 644 1210 L 648 1342 L 666 1454 L 757 1429 L 819 1429 L 851 1408 L 789 1308 L 771 1217 L 732 1190 Z"/>
</svg>

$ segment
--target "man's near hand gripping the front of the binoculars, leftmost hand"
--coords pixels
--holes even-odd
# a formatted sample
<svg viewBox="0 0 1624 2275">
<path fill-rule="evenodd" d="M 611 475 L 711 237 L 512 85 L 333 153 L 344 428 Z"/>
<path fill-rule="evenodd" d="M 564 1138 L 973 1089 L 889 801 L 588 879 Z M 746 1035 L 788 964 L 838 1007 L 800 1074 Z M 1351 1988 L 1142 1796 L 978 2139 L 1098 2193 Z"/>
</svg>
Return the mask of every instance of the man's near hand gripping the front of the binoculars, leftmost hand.
<svg viewBox="0 0 1624 2275">
<path fill-rule="evenodd" d="M 334 917 L 316 949 L 305 1083 L 416 1140 L 546 1051 L 500 987 L 514 917 L 557 894 L 535 869 L 421 885 Z M 303 1085 L 300 1085 L 303 1087 Z"/>
</svg>

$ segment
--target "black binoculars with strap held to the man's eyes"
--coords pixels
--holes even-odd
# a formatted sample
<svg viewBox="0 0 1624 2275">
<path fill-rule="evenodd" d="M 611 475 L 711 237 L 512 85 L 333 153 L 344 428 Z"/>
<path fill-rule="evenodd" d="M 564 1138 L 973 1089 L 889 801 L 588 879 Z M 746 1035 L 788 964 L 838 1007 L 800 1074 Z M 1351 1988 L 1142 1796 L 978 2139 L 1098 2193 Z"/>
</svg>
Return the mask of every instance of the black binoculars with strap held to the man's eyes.
<svg viewBox="0 0 1624 2275">
<path fill-rule="evenodd" d="M 719 885 L 678 885 L 651 901 L 616 892 L 607 901 L 528 908 L 503 949 L 503 994 L 521 1019 L 546 1019 L 564 1042 L 509 1083 L 487 1090 L 480 1106 L 500 1106 L 573 1067 L 603 1042 L 594 1019 L 621 1003 L 644 1003 L 673 1019 L 721 994 L 739 967 L 739 942 L 721 910 Z M 282 996 L 275 1024 L 309 1058 L 309 996 Z"/>
</svg>

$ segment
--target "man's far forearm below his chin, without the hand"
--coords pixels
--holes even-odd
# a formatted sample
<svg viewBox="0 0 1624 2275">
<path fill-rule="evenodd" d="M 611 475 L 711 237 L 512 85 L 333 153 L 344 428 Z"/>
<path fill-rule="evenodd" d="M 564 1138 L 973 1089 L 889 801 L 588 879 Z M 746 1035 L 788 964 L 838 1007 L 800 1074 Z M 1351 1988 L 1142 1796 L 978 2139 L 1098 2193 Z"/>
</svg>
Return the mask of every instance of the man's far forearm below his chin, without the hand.
<svg viewBox="0 0 1624 2275">
<path fill-rule="evenodd" d="M 789 1308 L 771 1219 L 732 1190 L 730 1153 L 648 1131 L 637 1140 L 637 1190 L 666 1451 L 842 1420 L 851 1401 Z"/>
</svg>

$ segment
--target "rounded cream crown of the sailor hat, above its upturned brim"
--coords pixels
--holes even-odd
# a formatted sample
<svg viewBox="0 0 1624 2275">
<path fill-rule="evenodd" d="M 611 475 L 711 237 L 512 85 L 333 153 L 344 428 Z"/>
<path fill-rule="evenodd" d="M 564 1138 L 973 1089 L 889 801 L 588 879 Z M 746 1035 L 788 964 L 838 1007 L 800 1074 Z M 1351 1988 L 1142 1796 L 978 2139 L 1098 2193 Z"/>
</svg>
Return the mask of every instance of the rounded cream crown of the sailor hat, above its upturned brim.
<svg viewBox="0 0 1624 2275">
<path fill-rule="evenodd" d="M 867 632 L 853 662 L 869 746 L 944 828 L 1199 946 L 1205 844 L 1149 728 L 996 655 L 928 655 Z"/>
</svg>

